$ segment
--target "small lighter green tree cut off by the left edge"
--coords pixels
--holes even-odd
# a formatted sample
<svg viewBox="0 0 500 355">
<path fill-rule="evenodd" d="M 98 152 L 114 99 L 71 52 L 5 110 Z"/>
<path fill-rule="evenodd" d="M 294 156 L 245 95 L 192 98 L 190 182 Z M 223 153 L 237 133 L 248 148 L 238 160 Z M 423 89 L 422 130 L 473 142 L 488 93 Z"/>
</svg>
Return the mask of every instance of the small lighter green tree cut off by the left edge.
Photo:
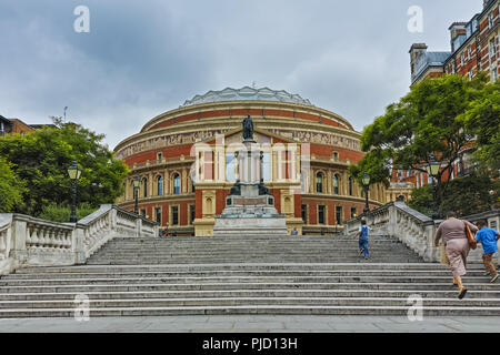
<svg viewBox="0 0 500 355">
<path fill-rule="evenodd" d="M 11 212 L 22 202 L 24 186 L 12 171 L 12 164 L 0 156 L 0 213 Z"/>
</svg>

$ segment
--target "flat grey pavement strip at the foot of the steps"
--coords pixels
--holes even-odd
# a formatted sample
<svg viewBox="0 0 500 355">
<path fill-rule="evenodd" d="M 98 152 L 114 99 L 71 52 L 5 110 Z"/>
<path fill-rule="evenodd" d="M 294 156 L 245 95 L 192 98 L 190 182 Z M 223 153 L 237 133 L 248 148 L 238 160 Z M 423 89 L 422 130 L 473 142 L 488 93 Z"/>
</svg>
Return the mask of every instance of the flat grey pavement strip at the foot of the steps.
<svg viewBox="0 0 500 355">
<path fill-rule="evenodd" d="M 499 333 L 500 317 L 148 316 L 3 318 L 1 333 Z"/>
</svg>

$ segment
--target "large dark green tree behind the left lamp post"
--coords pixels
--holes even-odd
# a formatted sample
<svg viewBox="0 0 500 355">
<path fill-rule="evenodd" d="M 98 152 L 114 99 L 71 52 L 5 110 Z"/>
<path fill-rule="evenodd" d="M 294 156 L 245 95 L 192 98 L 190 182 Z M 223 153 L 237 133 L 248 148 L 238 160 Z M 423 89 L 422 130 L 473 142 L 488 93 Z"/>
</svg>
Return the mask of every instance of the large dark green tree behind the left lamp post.
<svg viewBox="0 0 500 355">
<path fill-rule="evenodd" d="M 78 181 L 78 200 L 93 207 L 112 203 L 122 193 L 127 165 L 97 134 L 80 124 L 53 118 L 56 128 L 46 126 L 31 134 L 8 135 L 0 140 L 0 156 L 14 164 L 16 174 L 27 191 L 23 203 L 13 211 L 38 216 L 44 205 L 71 204 L 71 182 L 67 169 L 76 160 L 82 169 Z"/>
</svg>

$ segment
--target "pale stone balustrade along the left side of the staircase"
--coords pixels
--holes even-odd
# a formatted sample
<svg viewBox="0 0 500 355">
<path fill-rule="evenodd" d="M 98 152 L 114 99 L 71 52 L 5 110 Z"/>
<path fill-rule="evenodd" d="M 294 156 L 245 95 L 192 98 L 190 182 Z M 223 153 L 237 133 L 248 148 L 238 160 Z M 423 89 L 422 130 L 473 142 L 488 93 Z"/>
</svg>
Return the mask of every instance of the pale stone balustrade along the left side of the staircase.
<svg viewBox="0 0 500 355">
<path fill-rule="evenodd" d="M 83 264 L 116 236 L 156 237 L 158 223 L 111 204 L 78 223 L 0 214 L 0 274 L 23 266 Z"/>
</svg>

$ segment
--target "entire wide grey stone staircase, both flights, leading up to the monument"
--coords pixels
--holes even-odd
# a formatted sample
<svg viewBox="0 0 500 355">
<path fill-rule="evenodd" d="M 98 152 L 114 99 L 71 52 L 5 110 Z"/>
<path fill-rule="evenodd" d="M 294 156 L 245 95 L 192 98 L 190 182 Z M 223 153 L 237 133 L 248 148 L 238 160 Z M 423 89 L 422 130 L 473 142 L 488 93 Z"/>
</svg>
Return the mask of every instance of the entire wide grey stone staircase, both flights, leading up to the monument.
<svg viewBox="0 0 500 355">
<path fill-rule="evenodd" d="M 0 317 L 200 314 L 500 316 L 500 282 L 471 263 L 457 298 L 444 265 L 398 240 L 371 236 L 370 260 L 346 236 L 116 239 L 87 265 L 29 267 L 0 278 Z"/>
</svg>

